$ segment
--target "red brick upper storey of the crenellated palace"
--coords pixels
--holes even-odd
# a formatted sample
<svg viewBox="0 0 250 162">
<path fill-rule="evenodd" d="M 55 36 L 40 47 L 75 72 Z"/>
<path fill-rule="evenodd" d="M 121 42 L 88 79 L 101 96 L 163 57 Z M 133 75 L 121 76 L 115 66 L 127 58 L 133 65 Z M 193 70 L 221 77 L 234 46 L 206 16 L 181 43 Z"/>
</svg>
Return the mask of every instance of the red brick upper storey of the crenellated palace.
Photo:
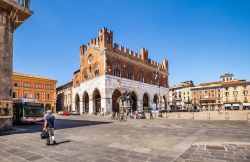
<svg viewBox="0 0 250 162">
<path fill-rule="evenodd" d="M 104 51 L 104 52 L 103 52 Z M 148 58 L 148 50 L 140 54 L 113 43 L 113 32 L 103 28 L 97 38 L 80 47 L 80 69 L 75 72 L 73 85 L 104 74 L 168 87 L 168 61 L 157 63 Z"/>
</svg>

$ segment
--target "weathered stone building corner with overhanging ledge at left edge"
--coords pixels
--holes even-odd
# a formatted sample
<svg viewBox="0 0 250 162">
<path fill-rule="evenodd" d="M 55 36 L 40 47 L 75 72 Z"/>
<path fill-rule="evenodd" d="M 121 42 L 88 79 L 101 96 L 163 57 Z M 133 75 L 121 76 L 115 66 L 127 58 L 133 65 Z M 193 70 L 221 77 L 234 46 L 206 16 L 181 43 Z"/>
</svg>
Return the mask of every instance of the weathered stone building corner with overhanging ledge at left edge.
<svg viewBox="0 0 250 162">
<path fill-rule="evenodd" d="M 0 129 L 12 126 L 13 33 L 31 15 L 30 0 L 0 0 Z"/>
</svg>

